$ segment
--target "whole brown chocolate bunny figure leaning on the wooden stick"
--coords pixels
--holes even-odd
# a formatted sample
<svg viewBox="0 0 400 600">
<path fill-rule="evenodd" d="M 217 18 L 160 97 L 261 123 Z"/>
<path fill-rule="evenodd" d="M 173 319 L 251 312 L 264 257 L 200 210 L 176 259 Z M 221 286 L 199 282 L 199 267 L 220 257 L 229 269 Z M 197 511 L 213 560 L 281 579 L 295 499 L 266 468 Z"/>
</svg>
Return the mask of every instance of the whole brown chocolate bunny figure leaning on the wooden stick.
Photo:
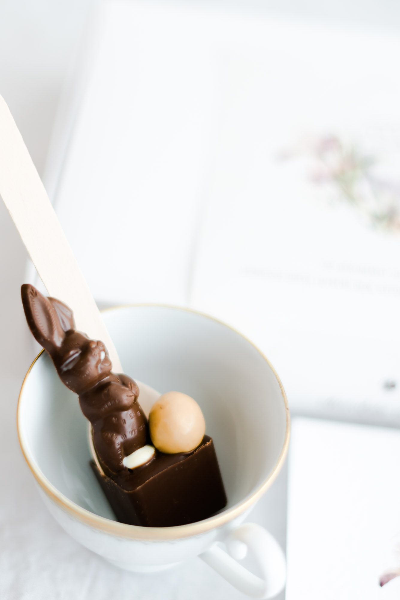
<svg viewBox="0 0 400 600">
<path fill-rule="evenodd" d="M 49 353 L 62 382 L 78 394 L 81 410 L 93 428 L 93 444 L 108 475 L 126 469 L 123 458 L 150 440 L 147 419 L 131 377 L 111 372 L 101 341 L 75 331 L 72 311 L 34 286 L 21 288 L 22 304 L 35 339 Z"/>
</svg>

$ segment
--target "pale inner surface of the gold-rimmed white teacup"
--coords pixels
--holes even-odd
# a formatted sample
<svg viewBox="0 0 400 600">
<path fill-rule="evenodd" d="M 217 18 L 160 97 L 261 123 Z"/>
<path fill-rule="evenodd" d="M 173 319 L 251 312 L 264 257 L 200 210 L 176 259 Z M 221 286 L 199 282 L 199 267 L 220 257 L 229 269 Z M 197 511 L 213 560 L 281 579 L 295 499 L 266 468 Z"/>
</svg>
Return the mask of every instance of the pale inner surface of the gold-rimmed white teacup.
<svg viewBox="0 0 400 600">
<path fill-rule="evenodd" d="M 228 496 L 224 511 L 202 523 L 211 529 L 223 515 L 227 522 L 250 508 L 273 481 L 289 442 L 286 396 L 266 358 L 238 332 L 193 311 L 134 306 L 103 317 L 126 373 L 161 393 L 189 394 L 201 406 Z M 25 458 L 45 492 L 55 488 L 58 500 L 65 496 L 115 520 L 89 467 L 87 421 L 77 396 L 63 386 L 44 352 L 23 384 L 18 428 Z"/>
</svg>

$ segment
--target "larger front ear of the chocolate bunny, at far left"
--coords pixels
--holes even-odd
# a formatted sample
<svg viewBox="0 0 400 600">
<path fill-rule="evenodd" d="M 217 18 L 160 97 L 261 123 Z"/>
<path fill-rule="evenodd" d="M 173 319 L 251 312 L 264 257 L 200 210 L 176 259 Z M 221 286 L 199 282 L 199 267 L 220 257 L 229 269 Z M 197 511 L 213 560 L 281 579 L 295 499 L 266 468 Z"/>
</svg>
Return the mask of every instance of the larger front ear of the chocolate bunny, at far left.
<svg viewBox="0 0 400 600">
<path fill-rule="evenodd" d="M 43 296 L 30 284 L 21 287 L 23 310 L 29 329 L 34 334 L 41 346 L 49 354 L 53 353 L 62 344 L 65 332 L 60 319 L 48 298 Z"/>
</svg>

